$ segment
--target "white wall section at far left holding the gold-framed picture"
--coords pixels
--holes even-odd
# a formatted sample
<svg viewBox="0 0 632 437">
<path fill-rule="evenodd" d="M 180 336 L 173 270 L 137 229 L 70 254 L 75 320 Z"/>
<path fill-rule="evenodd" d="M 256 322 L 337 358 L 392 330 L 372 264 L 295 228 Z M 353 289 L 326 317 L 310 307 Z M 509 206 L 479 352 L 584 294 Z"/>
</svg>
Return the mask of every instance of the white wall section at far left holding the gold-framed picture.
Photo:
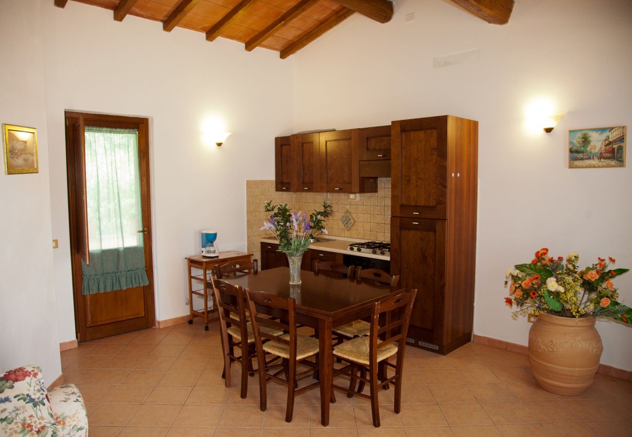
<svg viewBox="0 0 632 437">
<path fill-rule="evenodd" d="M 38 0 L 0 2 L 0 123 L 36 128 L 39 151 L 39 173 L 0 173 L 0 373 L 37 364 L 51 384 L 61 374 L 61 364 L 51 242 L 44 33 L 38 4 Z"/>
</svg>

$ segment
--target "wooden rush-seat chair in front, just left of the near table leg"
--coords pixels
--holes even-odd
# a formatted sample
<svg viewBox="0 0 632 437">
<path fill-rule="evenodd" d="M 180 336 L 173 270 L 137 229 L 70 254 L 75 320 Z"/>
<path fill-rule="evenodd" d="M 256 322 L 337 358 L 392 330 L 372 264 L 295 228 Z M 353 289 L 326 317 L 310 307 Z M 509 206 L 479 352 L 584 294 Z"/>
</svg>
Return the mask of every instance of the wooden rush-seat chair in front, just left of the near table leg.
<svg viewBox="0 0 632 437">
<path fill-rule="evenodd" d="M 260 409 L 262 411 L 267 409 L 266 386 L 268 381 L 273 380 L 287 385 L 288 402 L 285 421 L 291 422 L 294 413 L 295 395 L 306 392 L 319 385 L 319 382 L 316 382 L 302 388 L 297 388 L 298 378 L 312 374 L 314 369 L 318 368 L 317 362 L 307 361 L 307 359 L 315 356 L 319 352 L 319 340 L 296 333 L 295 299 L 283 299 L 273 294 L 255 292 L 248 289 L 245 291 L 250 313 L 255 314 L 255 317 L 252 319 L 252 325 L 254 327 L 255 342 L 257 344 Z M 274 316 L 278 318 L 278 320 L 263 318 L 260 313 L 274 313 Z M 280 337 L 270 335 L 269 332 L 262 329 L 262 323 L 274 327 L 277 330 L 286 331 L 287 333 Z M 264 343 L 264 340 L 268 341 Z M 275 356 L 274 359 L 281 357 L 283 359 L 281 364 L 270 365 L 274 359 L 266 362 L 264 352 Z M 298 363 L 308 366 L 308 369 L 297 374 L 296 365 Z M 274 369 L 279 367 L 281 367 L 281 369 L 272 373 Z M 285 378 L 281 378 L 281 374 L 283 374 Z"/>
</svg>

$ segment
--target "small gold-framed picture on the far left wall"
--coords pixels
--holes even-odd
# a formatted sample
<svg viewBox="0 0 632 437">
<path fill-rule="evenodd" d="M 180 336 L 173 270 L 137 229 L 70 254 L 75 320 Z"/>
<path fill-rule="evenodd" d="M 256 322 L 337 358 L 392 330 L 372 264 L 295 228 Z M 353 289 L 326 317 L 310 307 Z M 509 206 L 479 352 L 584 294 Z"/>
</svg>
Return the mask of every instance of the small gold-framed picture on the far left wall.
<svg viewBox="0 0 632 437">
<path fill-rule="evenodd" d="M 4 174 L 38 173 L 37 129 L 3 124 Z"/>
</svg>

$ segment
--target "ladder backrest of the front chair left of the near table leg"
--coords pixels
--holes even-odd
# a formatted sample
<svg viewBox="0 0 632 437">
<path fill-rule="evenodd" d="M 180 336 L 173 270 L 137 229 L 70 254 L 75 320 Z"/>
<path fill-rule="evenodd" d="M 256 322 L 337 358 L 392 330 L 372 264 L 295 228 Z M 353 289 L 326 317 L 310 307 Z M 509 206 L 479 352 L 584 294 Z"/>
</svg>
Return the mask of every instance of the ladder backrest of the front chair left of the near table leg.
<svg viewBox="0 0 632 437">
<path fill-rule="evenodd" d="M 248 309 L 250 314 L 254 314 L 250 318 L 252 323 L 252 330 L 255 333 L 255 342 L 257 343 L 257 350 L 261 350 L 262 342 L 264 340 L 272 340 L 274 342 L 283 343 L 289 345 L 290 359 L 294 357 L 296 359 L 296 301 L 289 297 L 284 299 L 283 297 L 275 296 L 262 291 L 251 291 L 245 289 L 246 302 L 248 302 Z M 261 314 L 268 314 L 274 316 L 273 319 L 264 318 Z M 289 334 L 288 338 L 281 338 L 276 335 L 272 335 L 260 329 L 260 326 L 264 324 L 268 328 L 276 328 L 283 330 Z M 263 354 L 261 354 L 263 356 Z"/>
</svg>

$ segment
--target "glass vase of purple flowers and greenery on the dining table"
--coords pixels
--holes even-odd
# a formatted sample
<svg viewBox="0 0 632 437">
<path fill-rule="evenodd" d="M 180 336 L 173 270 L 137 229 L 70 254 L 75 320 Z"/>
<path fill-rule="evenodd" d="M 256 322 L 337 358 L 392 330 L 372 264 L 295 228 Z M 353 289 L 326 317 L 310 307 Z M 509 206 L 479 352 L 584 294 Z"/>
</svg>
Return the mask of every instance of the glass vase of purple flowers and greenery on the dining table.
<svg viewBox="0 0 632 437">
<path fill-rule="evenodd" d="M 289 283 L 300 284 L 303 254 L 310 242 L 320 234 L 327 234 L 325 219 L 331 214 L 331 203 L 324 201 L 321 210 L 314 210 L 308 216 L 305 211 L 291 212 L 286 203 L 272 205 L 269 200 L 265 202 L 264 211 L 271 214 L 261 229 L 272 232 L 279 241 L 279 251 L 288 256 Z"/>
</svg>

